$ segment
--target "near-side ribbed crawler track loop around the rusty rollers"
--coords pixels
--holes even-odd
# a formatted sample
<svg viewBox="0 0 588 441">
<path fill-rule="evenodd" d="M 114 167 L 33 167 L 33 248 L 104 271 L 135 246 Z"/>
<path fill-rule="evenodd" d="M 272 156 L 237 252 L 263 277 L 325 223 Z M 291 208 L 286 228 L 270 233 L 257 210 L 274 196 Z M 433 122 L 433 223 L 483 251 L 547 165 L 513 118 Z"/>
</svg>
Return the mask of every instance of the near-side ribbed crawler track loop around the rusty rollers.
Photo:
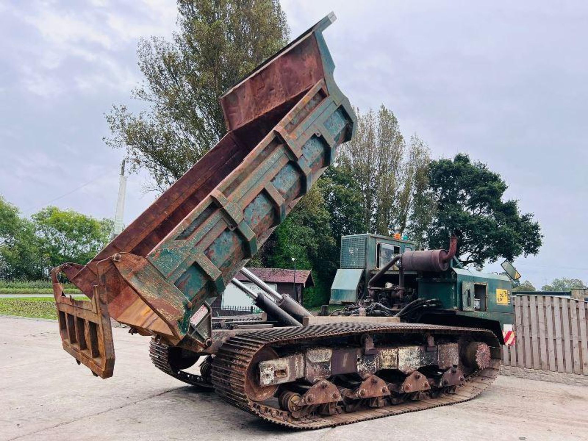
<svg viewBox="0 0 588 441">
<path fill-rule="evenodd" d="M 328 325 L 312 325 L 303 328 L 276 328 L 239 333 L 228 339 L 219 349 L 212 363 L 212 383 L 216 392 L 231 405 L 282 426 L 293 429 L 320 429 L 322 427 L 340 426 L 359 421 L 399 415 L 406 412 L 431 409 L 465 402 L 486 389 L 499 372 L 500 359 L 492 360 L 492 367 L 477 371 L 466 377 L 462 386 L 457 386 L 455 393 L 440 395 L 436 398 L 408 401 L 398 405 L 390 405 L 356 412 L 318 416 L 313 415 L 302 419 L 293 419 L 290 413 L 263 403 L 253 402 L 245 393 L 245 376 L 250 361 L 263 346 L 295 345 L 313 343 L 320 345 L 320 340 L 330 337 L 382 333 L 426 333 L 435 335 L 448 334 L 453 336 L 470 335 L 476 338 L 484 336 L 495 340 L 492 346 L 499 347 L 494 334 L 485 329 L 454 328 L 450 326 L 420 325 L 413 323 L 395 323 L 376 325 L 374 323 L 331 323 Z"/>
</svg>

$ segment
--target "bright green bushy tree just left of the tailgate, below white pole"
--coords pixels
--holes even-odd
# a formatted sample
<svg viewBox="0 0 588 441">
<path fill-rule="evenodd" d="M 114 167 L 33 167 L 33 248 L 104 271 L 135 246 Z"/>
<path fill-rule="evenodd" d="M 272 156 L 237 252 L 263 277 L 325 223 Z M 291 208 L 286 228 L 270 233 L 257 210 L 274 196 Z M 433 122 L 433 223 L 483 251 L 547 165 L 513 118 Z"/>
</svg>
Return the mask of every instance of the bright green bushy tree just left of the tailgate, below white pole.
<svg viewBox="0 0 588 441">
<path fill-rule="evenodd" d="M 87 263 L 108 243 L 111 219 L 95 219 L 48 206 L 32 215 L 39 249 L 48 268 L 65 262 Z"/>
</svg>

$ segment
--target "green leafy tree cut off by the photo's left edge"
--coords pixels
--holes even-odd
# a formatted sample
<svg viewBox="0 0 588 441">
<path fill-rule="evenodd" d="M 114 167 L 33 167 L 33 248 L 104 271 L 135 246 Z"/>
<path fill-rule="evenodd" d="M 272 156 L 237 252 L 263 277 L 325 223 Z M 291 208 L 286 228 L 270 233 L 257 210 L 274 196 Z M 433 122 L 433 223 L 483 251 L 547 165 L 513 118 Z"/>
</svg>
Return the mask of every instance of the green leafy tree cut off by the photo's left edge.
<svg viewBox="0 0 588 441">
<path fill-rule="evenodd" d="M 35 226 L 0 196 L 0 279 L 41 279 L 43 270 Z"/>
</svg>

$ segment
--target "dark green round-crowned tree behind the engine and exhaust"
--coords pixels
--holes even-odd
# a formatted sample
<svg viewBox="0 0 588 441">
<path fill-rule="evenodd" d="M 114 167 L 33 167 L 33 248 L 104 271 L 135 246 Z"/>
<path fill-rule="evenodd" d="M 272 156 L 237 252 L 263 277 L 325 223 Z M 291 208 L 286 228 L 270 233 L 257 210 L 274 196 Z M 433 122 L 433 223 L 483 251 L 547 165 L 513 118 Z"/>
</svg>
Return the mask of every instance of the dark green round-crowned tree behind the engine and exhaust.
<svg viewBox="0 0 588 441">
<path fill-rule="evenodd" d="M 539 223 L 532 213 L 521 214 L 517 201 L 502 201 L 506 189 L 498 173 L 464 153 L 453 160 L 432 161 L 429 191 L 435 215 L 426 229 L 429 248 L 446 247 L 456 232 L 457 256 L 465 265 L 483 266 L 539 252 Z"/>
</svg>

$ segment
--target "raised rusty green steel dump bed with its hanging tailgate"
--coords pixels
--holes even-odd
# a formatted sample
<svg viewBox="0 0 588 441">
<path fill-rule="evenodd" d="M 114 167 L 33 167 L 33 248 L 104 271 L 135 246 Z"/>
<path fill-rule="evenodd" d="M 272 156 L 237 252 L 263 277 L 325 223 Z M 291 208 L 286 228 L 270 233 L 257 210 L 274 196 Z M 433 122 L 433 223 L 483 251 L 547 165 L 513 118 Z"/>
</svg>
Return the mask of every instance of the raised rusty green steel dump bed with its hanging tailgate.
<svg viewBox="0 0 588 441">
<path fill-rule="evenodd" d="M 112 375 L 110 317 L 211 345 L 211 303 L 333 162 L 355 115 L 333 79 L 331 14 L 220 97 L 228 133 L 87 265 L 52 272 L 64 348 Z M 65 273 L 91 298 L 67 298 Z"/>
</svg>

